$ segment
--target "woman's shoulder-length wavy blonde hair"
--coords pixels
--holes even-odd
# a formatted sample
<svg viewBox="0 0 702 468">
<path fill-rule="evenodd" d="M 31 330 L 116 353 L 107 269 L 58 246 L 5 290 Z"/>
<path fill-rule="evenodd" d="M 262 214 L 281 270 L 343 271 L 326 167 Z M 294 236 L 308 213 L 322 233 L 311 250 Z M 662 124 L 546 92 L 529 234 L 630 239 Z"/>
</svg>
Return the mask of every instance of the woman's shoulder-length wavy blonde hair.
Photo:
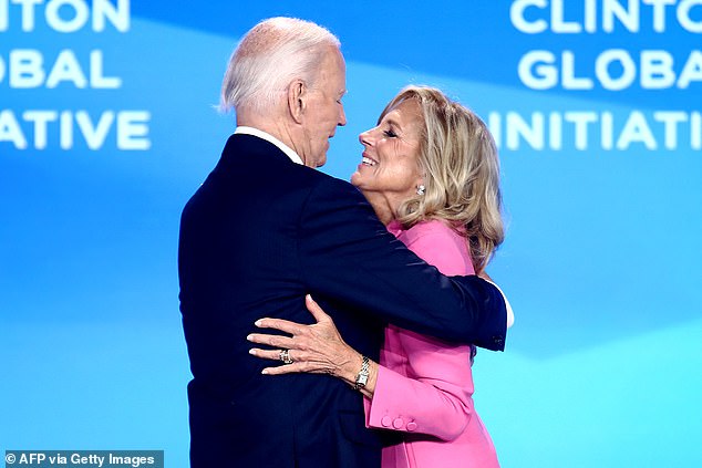
<svg viewBox="0 0 702 468">
<path fill-rule="evenodd" d="M 419 164 L 425 193 L 400 206 L 398 221 L 405 229 L 422 220 L 447 221 L 466 237 L 479 273 L 505 237 L 493 136 L 475 113 L 429 86 L 404 87 L 379 123 L 406 100 L 415 100 L 424 117 Z"/>
</svg>

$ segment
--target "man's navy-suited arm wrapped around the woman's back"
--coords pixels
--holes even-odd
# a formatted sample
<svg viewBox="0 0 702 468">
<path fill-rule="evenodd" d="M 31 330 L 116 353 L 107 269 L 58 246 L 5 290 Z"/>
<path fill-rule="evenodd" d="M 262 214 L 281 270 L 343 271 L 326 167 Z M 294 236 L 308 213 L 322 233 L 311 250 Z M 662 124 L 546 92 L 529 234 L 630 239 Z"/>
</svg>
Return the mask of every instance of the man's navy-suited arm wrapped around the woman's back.
<svg viewBox="0 0 702 468">
<path fill-rule="evenodd" d="M 298 232 L 313 293 L 420 333 L 502 351 L 500 292 L 477 278 L 444 277 L 385 230 L 351 185 L 328 179 L 310 194 Z"/>
</svg>

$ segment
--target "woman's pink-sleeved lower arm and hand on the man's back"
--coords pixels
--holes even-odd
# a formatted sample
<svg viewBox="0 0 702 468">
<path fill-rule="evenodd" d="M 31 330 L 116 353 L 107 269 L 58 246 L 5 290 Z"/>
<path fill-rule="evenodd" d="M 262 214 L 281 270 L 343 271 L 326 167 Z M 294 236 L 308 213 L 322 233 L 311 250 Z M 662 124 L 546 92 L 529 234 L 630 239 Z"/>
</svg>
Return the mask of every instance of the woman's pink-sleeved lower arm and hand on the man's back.
<svg viewBox="0 0 702 468">
<path fill-rule="evenodd" d="M 314 324 L 303 325 L 280 319 L 262 319 L 256 324 L 283 331 L 291 337 L 255 333 L 254 343 L 276 350 L 252 349 L 255 356 L 279 361 L 279 349 L 289 350 L 292 363 L 264 370 L 267 375 L 296 372 L 329 374 L 354 386 L 363 356 L 339 335 L 333 321 L 309 297 L 306 298 Z M 359 391 L 365 396 L 369 427 L 429 434 L 443 440 L 456 438 L 473 413 L 471 347 L 450 345 L 416 333 L 393 330 L 407 352 L 413 378 L 370 361 L 368 383 Z"/>
</svg>

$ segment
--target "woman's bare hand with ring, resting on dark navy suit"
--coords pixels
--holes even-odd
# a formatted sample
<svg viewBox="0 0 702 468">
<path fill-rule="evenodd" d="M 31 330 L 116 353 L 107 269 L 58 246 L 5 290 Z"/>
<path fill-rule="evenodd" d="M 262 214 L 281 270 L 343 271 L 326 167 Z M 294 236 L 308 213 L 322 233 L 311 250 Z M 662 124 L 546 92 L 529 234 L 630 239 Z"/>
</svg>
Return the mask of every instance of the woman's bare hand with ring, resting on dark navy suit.
<svg viewBox="0 0 702 468">
<path fill-rule="evenodd" d="M 276 350 L 255 347 L 249 353 L 266 360 L 282 361 L 286 357 L 285 350 L 288 350 L 287 356 L 292 363 L 267 367 L 262 371 L 264 374 L 330 374 L 352 384 L 363 357 L 343 341 L 334 322 L 309 294 L 306 295 L 304 303 L 317 323 L 302 325 L 281 319 L 261 319 L 256 322 L 256 326 L 280 330 L 292 336 L 252 333 L 247 336 L 248 341 L 267 344 Z"/>
</svg>

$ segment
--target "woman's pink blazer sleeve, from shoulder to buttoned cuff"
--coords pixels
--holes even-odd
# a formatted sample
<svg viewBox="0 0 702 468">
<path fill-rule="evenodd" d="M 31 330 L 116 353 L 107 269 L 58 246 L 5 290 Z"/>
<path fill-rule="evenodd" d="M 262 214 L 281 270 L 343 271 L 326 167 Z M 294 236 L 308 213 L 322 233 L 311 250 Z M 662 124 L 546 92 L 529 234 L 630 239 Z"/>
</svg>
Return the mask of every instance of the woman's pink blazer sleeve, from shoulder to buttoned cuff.
<svg viewBox="0 0 702 468">
<path fill-rule="evenodd" d="M 407 247 L 444 274 L 473 274 L 467 248 L 460 245 L 463 240 L 435 222 L 406 239 Z M 364 402 L 367 426 L 429 434 L 443 440 L 456 438 L 473 414 L 471 346 L 395 326 L 389 327 L 385 340 L 402 346 L 407 376 L 379 367 L 373 398 Z"/>
</svg>

